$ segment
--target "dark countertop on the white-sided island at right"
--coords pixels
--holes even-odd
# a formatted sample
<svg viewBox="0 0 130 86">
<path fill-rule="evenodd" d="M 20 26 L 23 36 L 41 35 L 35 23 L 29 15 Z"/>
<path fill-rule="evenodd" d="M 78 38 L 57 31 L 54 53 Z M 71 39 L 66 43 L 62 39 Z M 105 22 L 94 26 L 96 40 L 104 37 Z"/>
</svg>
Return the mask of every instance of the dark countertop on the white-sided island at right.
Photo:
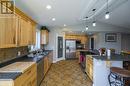
<svg viewBox="0 0 130 86">
<path fill-rule="evenodd" d="M 110 57 L 99 55 L 93 55 L 92 57 L 104 61 L 130 61 L 130 55 L 112 54 Z"/>
</svg>

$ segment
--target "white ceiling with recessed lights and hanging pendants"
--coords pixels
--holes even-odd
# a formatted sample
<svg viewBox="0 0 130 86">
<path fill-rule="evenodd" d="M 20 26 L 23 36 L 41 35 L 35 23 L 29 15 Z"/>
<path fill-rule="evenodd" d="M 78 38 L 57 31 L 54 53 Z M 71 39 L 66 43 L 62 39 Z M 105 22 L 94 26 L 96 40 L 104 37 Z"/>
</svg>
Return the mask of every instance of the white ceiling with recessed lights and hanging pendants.
<svg viewBox="0 0 130 86">
<path fill-rule="evenodd" d="M 121 0 L 110 1 L 115 1 L 112 4 L 115 6 Z M 92 9 L 96 8 L 99 12 L 97 21 L 130 28 L 130 0 L 124 1 L 115 9 L 112 8 L 109 20 L 105 20 L 103 11 L 100 11 L 106 0 L 16 0 L 16 6 L 40 25 L 45 26 L 82 24 L 81 19 L 91 16 Z M 52 6 L 51 10 L 46 9 L 48 4 Z M 55 22 L 51 20 L 53 17 L 56 18 Z"/>
</svg>

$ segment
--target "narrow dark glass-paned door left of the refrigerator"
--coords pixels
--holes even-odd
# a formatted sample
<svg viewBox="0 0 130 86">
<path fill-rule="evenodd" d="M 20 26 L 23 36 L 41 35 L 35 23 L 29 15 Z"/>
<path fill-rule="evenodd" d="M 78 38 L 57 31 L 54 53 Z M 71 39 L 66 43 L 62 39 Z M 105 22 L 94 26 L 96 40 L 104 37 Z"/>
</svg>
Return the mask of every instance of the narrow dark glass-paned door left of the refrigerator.
<svg viewBox="0 0 130 86">
<path fill-rule="evenodd" d="M 63 37 L 58 36 L 58 58 L 63 57 Z"/>
</svg>

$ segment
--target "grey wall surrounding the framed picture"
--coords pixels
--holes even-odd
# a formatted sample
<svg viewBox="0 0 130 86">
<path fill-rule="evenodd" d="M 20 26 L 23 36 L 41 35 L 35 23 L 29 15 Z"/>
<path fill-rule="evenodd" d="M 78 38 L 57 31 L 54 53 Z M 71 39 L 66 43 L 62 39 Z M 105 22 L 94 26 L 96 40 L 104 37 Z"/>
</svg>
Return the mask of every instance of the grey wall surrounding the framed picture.
<svg viewBox="0 0 130 86">
<path fill-rule="evenodd" d="M 117 42 L 105 42 L 105 32 L 97 33 L 93 37 L 95 39 L 95 49 L 114 48 L 116 53 L 121 52 L 121 33 L 117 33 Z"/>
</svg>

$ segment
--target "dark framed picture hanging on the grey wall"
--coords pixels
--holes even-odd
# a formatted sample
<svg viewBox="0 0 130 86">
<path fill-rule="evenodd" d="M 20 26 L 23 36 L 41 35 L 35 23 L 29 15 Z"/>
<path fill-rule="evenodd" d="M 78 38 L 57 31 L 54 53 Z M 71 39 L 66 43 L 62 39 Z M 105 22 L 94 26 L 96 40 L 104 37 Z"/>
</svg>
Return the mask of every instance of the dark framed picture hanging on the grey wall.
<svg viewBox="0 0 130 86">
<path fill-rule="evenodd" d="M 106 33 L 105 34 L 105 41 L 106 42 L 116 42 L 117 41 L 117 34 L 116 33 Z"/>
</svg>

